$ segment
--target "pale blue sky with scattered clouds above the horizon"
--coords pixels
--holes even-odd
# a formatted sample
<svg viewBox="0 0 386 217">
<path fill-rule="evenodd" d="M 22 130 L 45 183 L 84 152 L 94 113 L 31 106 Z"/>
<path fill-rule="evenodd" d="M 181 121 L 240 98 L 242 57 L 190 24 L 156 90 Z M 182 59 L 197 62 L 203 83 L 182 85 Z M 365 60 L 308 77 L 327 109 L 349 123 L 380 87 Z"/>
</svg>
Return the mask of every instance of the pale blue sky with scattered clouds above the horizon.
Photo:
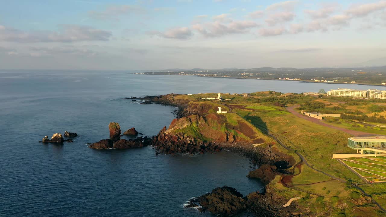
<svg viewBox="0 0 386 217">
<path fill-rule="evenodd" d="M 386 65 L 386 0 L 0 0 L 0 69 Z"/>
</svg>

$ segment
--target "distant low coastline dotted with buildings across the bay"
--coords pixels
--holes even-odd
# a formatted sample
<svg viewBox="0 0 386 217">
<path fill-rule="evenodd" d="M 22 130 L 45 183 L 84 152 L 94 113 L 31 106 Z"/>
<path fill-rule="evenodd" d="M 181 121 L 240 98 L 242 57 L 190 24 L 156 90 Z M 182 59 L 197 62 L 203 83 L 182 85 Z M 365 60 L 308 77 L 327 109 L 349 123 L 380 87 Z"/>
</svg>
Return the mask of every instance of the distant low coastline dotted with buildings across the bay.
<svg viewBox="0 0 386 217">
<path fill-rule="evenodd" d="M 242 78 L 262 80 L 300 81 L 312 83 L 341 83 L 358 85 L 386 86 L 386 66 L 357 68 L 224 68 L 207 70 L 194 68 L 142 70 L 137 75 L 183 75 L 203 76 L 212 78 Z"/>
</svg>

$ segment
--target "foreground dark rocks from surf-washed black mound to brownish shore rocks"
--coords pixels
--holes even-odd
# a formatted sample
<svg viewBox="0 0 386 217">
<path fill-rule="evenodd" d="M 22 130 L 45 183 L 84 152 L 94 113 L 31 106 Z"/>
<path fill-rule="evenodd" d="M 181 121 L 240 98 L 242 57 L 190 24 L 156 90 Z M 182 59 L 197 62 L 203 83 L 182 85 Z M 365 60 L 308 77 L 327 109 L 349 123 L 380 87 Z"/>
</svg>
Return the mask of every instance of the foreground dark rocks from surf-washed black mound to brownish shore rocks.
<svg viewBox="0 0 386 217">
<path fill-rule="evenodd" d="M 263 194 L 252 192 L 243 197 L 235 188 L 223 186 L 191 199 L 185 207 L 195 207 L 200 212 L 208 211 L 218 216 L 232 216 L 244 211 L 253 212 L 259 217 L 293 216 L 294 205 L 282 207 L 284 203 L 283 197 L 277 197 L 269 189 Z"/>
</svg>

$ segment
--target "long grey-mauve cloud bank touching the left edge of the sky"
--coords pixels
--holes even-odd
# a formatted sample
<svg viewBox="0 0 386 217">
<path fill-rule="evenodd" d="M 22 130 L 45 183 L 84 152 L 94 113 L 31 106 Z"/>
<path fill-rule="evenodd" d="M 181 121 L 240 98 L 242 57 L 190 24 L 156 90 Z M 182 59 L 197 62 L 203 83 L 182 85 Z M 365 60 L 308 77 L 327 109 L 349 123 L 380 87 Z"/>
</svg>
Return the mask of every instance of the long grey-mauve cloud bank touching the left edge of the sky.
<svg viewBox="0 0 386 217">
<path fill-rule="evenodd" d="M 76 41 L 108 41 L 112 32 L 94 29 L 88 26 L 63 25 L 59 32 L 54 31 L 21 31 L 1 26 L 0 41 L 10 42 L 76 42 Z"/>
</svg>

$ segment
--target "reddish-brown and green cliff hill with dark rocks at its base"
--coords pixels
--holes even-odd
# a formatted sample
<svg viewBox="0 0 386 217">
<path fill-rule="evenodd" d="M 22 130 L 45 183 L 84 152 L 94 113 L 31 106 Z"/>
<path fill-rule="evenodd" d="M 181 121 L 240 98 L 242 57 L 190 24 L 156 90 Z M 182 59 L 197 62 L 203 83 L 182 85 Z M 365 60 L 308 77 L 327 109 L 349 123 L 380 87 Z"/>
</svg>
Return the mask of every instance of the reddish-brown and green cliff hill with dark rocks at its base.
<svg viewBox="0 0 386 217">
<path fill-rule="evenodd" d="M 267 141 L 272 139 L 237 114 L 209 113 L 174 119 L 154 137 L 153 145 L 161 153 L 203 153 L 232 143 Z"/>
</svg>

